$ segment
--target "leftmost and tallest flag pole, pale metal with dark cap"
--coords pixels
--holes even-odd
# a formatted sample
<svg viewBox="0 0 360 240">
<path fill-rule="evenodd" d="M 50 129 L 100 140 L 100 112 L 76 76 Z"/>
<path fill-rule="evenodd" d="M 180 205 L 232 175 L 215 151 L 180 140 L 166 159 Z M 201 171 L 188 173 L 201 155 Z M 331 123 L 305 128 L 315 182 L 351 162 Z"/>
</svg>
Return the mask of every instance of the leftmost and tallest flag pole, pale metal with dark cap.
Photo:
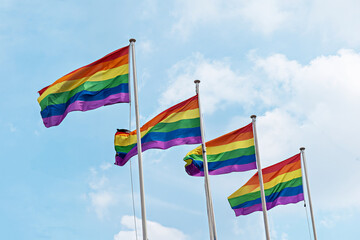
<svg viewBox="0 0 360 240">
<path fill-rule="evenodd" d="M 133 79 L 134 79 L 134 99 L 135 99 L 135 115 L 136 115 L 136 136 L 137 136 L 137 150 L 139 160 L 139 183 L 140 183 L 140 199 L 141 199 L 141 220 L 142 220 L 142 233 L 143 240 L 147 240 L 146 228 L 146 210 L 145 210 L 145 194 L 144 194 L 144 179 L 142 170 L 142 149 L 141 149 L 141 132 L 140 132 L 140 117 L 139 117 L 139 104 L 137 92 L 137 79 L 136 79 L 136 66 L 135 66 L 135 42 L 134 38 L 129 40 L 131 46 L 132 66 L 133 66 Z"/>
</svg>

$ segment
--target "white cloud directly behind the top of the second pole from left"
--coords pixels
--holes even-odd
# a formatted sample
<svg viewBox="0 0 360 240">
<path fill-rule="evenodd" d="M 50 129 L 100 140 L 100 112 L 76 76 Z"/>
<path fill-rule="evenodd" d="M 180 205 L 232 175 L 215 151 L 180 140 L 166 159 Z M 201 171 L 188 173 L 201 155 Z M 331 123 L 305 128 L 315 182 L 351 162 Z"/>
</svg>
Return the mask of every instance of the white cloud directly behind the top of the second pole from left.
<svg viewBox="0 0 360 240">
<path fill-rule="evenodd" d="M 251 102 L 248 89 L 252 83 L 231 70 L 226 60 L 214 61 L 205 59 L 201 54 L 194 54 L 175 64 L 169 75 L 172 80 L 162 94 L 160 104 L 169 106 L 195 95 L 195 79 L 201 80 L 200 95 L 204 113 L 213 113 L 228 103 Z"/>
</svg>

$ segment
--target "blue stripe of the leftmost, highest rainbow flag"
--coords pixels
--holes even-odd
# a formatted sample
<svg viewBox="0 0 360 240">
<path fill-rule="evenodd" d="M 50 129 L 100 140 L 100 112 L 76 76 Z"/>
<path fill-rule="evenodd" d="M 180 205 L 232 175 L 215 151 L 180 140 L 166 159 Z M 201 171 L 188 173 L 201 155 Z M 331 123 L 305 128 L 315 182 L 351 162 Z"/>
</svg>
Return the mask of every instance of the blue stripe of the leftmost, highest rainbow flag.
<svg viewBox="0 0 360 240">
<path fill-rule="evenodd" d="M 44 110 L 41 111 L 41 117 L 47 118 L 51 116 L 63 115 L 67 107 L 75 101 L 97 101 L 105 99 L 113 94 L 128 93 L 128 85 L 128 83 L 122 83 L 116 87 L 106 88 L 95 92 L 83 90 L 72 96 L 66 103 L 47 106 Z"/>
</svg>

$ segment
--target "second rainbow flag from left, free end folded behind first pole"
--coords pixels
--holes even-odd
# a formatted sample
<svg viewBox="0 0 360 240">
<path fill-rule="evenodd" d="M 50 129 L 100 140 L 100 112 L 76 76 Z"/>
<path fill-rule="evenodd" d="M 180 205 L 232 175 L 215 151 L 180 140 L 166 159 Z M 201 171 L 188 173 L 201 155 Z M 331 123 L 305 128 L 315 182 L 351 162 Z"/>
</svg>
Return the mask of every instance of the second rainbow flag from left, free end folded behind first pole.
<svg viewBox="0 0 360 240">
<path fill-rule="evenodd" d="M 201 143 L 198 96 L 195 95 L 163 111 L 145 123 L 140 132 L 142 151 Z M 118 130 L 114 143 L 115 164 L 123 166 L 137 154 L 136 130 Z"/>
</svg>

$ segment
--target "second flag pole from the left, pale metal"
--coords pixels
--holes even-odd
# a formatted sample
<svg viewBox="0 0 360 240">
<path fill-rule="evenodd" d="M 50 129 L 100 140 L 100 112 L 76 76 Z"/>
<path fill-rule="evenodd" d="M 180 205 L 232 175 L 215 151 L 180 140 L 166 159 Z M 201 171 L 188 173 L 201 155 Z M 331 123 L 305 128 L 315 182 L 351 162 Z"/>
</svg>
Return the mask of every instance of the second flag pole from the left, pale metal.
<svg viewBox="0 0 360 240">
<path fill-rule="evenodd" d="M 202 142 L 201 145 L 202 145 L 202 155 L 203 155 L 205 195 L 206 195 L 206 206 L 207 206 L 207 213 L 208 213 L 210 240 L 216 240 L 217 235 L 216 235 L 215 215 L 214 215 L 213 204 L 212 204 L 212 199 L 211 199 L 211 191 L 210 191 L 210 184 L 209 184 L 209 170 L 208 170 L 205 136 L 204 136 L 205 134 L 204 134 L 204 126 L 203 126 L 201 107 L 200 107 L 200 105 L 201 105 L 200 104 L 200 96 L 199 96 L 200 80 L 195 80 L 194 83 L 196 84 L 196 94 L 198 95 L 198 102 L 199 102 L 200 131 L 201 131 L 201 142 Z"/>
</svg>

